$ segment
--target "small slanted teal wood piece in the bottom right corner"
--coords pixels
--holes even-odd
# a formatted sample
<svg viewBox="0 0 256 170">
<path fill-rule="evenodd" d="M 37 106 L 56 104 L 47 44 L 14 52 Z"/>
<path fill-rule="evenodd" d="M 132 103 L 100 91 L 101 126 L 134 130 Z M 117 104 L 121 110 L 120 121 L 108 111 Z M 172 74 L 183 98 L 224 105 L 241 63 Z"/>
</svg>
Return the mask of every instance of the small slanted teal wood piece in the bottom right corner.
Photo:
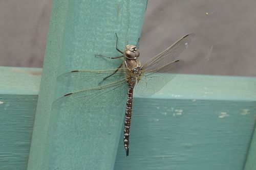
<svg viewBox="0 0 256 170">
<path fill-rule="evenodd" d="M 253 170 L 256 169 L 256 130 L 254 128 L 254 134 L 250 144 L 248 156 L 246 158 L 244 170 Z"/>
</svg>

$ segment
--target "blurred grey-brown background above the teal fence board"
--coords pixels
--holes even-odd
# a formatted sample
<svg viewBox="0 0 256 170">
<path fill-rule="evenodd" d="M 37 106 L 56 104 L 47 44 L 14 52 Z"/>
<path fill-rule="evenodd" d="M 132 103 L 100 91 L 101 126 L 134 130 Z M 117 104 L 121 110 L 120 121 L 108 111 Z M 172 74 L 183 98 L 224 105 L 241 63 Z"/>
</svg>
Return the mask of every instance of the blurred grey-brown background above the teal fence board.
<svg viewBox="0 0 256 170">
<path fill-rule="evenodd" d="M 0 66 L 42 67 L 51 0 L 0 1 Z M 256 76 L 256 1 L 148 0 L 140 60 L 188 33 L 184 74 Z"/>
</svg>

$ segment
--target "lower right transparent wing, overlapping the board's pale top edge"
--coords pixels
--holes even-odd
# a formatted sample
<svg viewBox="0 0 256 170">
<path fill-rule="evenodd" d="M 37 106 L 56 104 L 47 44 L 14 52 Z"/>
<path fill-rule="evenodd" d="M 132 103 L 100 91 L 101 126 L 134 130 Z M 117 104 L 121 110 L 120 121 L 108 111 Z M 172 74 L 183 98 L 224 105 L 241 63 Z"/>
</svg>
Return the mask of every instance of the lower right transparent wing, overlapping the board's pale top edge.
<svg viewBox="0 0 256 170">
<path fill-rule="evenodd" d="M 159 91 L 181 70 L 184 61 L 176 60 L 151 72 L 142 72 L 141 79 L 135 86 L 135 93 L 150 96 Z M 143 71 L 143 68 L 142 68 Z"/>
</svg>

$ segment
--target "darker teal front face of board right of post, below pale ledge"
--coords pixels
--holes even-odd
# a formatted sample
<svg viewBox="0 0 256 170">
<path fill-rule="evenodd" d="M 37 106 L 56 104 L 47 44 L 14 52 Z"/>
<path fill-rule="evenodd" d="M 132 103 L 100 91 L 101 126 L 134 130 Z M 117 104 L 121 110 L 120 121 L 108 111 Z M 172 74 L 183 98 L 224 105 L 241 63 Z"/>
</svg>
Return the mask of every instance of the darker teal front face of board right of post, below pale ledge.
<svg viewBox="0 0 256 170">
<path fill-rule="evenodd" d="M 115 169 L 243 169 L 255 125 L 251 101 L 134 100 L 130 156 Z"/>
</svg>

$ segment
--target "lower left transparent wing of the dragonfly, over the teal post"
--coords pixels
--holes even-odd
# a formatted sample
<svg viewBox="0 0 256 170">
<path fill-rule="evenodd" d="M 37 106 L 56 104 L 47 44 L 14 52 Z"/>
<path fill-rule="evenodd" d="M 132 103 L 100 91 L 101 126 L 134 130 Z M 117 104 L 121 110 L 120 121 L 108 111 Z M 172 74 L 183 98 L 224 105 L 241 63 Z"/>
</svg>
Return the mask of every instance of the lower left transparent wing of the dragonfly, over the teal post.
<svg viewBox="0 0 256 170">
<path fill-rule="evenodd" d="M 67 111 L 99 111 L 119 105 L 126 96 L 125 79 L 96 88 L 63 95 L 53 102 L 52 108 Z"/>
</svg>

